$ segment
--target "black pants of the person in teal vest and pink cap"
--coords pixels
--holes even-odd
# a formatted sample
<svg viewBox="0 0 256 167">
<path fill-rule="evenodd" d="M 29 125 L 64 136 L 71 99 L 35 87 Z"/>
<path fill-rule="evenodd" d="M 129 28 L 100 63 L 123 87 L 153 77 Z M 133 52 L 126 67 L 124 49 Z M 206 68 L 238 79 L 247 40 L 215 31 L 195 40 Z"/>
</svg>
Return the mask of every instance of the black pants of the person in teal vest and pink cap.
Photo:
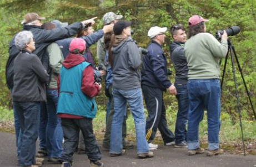
<svg viewBox="0 0 256 167">
<path fill-rule="evenodd" d="M 77 147 L 79 131 L 81 129 L 84 143 L 86 145 L 86 154 L 89 160 L 100 160 L 102 158 L 101 151 L 98 148 L 96 137 L 93 134 L 92 118 L 68 119 L 62 118 L 61 125 L 64 134 L 63 153 L 60 160 L 71 161 L 74 150 Z"/>
</svg>

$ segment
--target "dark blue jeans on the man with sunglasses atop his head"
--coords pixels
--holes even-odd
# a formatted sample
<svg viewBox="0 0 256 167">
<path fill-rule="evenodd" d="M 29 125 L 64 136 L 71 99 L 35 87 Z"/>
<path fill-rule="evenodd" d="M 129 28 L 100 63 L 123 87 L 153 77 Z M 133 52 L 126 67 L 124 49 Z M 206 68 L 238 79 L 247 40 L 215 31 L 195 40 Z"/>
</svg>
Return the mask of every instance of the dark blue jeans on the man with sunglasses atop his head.
<svg viewBox="0 0 256 167">
<path fill-rule="evenodd" d="M 186 124 L 188 122 L 188 84 L 174 84 L 178 100 L 178 113 L 175 125 L 175 143 L 187 140 Z"/>
</svg>

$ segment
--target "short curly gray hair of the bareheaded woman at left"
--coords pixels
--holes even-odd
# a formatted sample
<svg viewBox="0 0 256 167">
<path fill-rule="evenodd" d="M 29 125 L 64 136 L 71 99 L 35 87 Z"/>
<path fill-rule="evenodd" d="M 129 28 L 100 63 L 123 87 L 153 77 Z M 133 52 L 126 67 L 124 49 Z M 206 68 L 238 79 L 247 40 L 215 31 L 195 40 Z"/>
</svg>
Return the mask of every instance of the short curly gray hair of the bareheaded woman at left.
<svg viewBox="0 0 256 167">
<path fill-rule="evenodd" d="M 31 38 L 33 38 L 33 34 L 31 32 L 19 32 L 14 39 L 14 44 L 16 45 L 18 50 L 23 50 L 26 48 L 26 44 L 30 42 Z"/>
</svg>

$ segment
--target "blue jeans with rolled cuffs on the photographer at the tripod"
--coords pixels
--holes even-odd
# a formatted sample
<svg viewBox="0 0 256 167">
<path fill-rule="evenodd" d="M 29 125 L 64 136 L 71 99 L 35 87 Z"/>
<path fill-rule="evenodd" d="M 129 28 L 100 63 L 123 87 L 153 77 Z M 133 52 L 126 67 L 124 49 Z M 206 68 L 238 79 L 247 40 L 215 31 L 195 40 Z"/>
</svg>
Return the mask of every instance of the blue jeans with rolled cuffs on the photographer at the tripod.
<svg viewBox="0 0 256 167">
<path fill-rule="evenodd" d="M 198 127 L 207 110 L 208 149 L 219 148 L 220 84 L 218 79 L 188 81 L 188 149 L 199 148 Z"/>
</svg>

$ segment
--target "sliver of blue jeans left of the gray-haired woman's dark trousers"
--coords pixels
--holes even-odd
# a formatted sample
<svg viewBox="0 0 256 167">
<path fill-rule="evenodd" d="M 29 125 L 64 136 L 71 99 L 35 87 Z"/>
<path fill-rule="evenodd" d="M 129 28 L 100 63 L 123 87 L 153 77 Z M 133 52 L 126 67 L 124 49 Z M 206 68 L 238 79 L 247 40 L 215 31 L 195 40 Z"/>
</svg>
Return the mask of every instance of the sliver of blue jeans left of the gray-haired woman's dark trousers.
<svg viewBox="0 0 256 167">
<path fill-rule="evenodd" d="M 11 88 L 11 95 L 12 95 L 12 88 Z M 21 125 L 19 123 L 19 116 L 17 113 L 17 109 L 14 105 L 13 105 L 13 116 L 14 116 L 14 128 L 15 128 L 15 135 L 16 135 L 17 159 L 19 160 L 19 154 L 21 153 L 21 145 L 22 145 L 22 132 L 21 132 Z"/>
</svg>

